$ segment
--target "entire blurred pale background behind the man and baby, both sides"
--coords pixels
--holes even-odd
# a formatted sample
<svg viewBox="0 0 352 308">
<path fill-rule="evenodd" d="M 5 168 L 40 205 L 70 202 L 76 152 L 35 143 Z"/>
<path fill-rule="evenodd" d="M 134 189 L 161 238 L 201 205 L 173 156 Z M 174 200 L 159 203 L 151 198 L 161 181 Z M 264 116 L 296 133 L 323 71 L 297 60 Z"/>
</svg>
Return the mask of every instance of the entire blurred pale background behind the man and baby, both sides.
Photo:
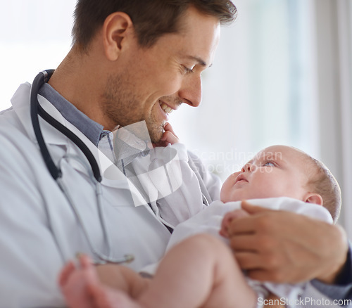
<svg viewBox="0 0 352 308">
<path fill-rule="evenodd" d="M 0 0 L 0 109 L 22 82 L 56 68 L 70 49 L 75 0 Z M 265 146 L 287 144 L 322 159 L 344 192 L 352 227 L 351 1 L 234 0 L 203 103 L 170 122 L 225 179 Z"/>
</svg>

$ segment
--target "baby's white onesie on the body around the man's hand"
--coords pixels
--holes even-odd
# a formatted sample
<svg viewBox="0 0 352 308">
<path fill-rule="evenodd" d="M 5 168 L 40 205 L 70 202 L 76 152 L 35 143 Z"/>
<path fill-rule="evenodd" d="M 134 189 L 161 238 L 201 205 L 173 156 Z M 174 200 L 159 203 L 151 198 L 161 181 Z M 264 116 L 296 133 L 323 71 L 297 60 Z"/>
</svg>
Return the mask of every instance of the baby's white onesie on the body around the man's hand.
<svg viewBox="0 0 352 308">
<path fill-rule="evenodd" d="M 249 200 L 253 205 L 260 205 L 261 207 L 268 207 L 272 210 L 285 210 L 289 212 L 295 212 L 303 214 L 308 217 L 322 220 L 323 222 L 332 223 L 332 217 L 329 212 L 320 205 L 312 203 L 304 203 L 303 201 L 281 197 L 281 198 L 265 198 L 265 199 L 253 199 Z M 172 246 L 179 243 L 185 238 L 194 236 L 198 233 L 208 233 L 216 238 L 223 240 L 228 244 L 228 240 L 220 236 L 220 226 L 222 218 L 227 212 L 237 210 L 241 208 L 241 202 L 230 202 L 222 203 L 221 201 L 214 201 L 208 208 L 202 210 L 194 217 L 191 217 L 186 222 L 176 226 L 170 241 L 168 243 L 169 250 Z M 254 281 L 251 278 L 247 278 L 249 285 L 258 294 L 258 307 L 263 307 L 263 300 L 268 295 L 268 291 L 274 293 L 282 302 L 287 304 L 287 307 L 299 307 L 301 306 L 299 299 L 308 292 L 308 289 L 312 288 L 310 283 L 299 283 L 299 284 L 287 284 L 287 283 L 262 283 Z M 313 295 L 310 294 L 310 297 Z M 325 295 L 314 295 L 319 299 L 324 298 Z"/>
</svg>

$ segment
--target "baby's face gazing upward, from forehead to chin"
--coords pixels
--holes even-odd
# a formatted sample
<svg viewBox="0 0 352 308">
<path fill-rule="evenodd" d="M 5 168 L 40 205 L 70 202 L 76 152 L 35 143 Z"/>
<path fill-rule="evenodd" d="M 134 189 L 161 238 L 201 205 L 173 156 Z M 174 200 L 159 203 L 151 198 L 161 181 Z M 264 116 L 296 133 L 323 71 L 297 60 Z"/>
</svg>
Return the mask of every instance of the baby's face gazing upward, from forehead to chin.
<svg viewBox="0 0 352 308">
<path fill-rule="evenodd" d="M 231 174 L 222 185 L 222 202 L 291 197 L 303 200 L 310 167 L 303 154 L 288 146 L 270 146 Z"/>
</svg>

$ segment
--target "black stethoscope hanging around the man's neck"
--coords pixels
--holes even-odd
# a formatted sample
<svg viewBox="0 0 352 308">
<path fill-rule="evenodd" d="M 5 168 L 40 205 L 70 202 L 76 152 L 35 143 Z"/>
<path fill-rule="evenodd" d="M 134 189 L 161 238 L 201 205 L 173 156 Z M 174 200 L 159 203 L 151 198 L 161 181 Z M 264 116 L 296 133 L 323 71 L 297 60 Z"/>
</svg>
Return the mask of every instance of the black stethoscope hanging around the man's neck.
<svg viewBox="0 0 352 308">
<path fill-rule="evenodd" d="M 82 231 L 84 233 L 84 236 L 87 240 L 87 243 L 89 245 L 89 248 L 92 250 L 94 255 L 100 259 L 99 262 L 96 263 L 116 263 L 116 264 L 121 264 L 121 263 L 126 263 L 126 262 L 132 262 L 134 259 L 133 255 L 125 255 L 124 257 L 121 258 L 114 258 L 112 257 L 112 249 L 111 249 L 111 238 L 108 234 L 107 228 L 106 228 L 106 222 L 104 219 L 103 215 L 103 209 L 101 207 L 101 172 L 99 169 L 99 165 L 96 162 L 96 159 L 94 158 L 94 155 L 92 152 L 89 150 L 89 148 L 84 144 L 84 142 L 79 139 L 75 134 L 73 134 L 72 131 L 70 131 L 67 127 L 63 126 L 60 122 L 58 122 L 54 117 L 51 117 L 49 113 L 46 113 L 46 111 L 42 108 L 41 105 L 39 105 L 38 101 L 38 93 L 39 89 L 42 87 L 42 85 L 45 82 L 48 82 L 50 79 L 51 75 L 53 75 L 54 70 L 44 70 L 42 72 L 39 72 L 37 77 L 34 78 L 33 84 L 32 84 L 32 89 L 30 92 L 30 117 L 32 119 L 32 125 L 34 129 L 34 134 L 37 138 L 38 145 L 40 148 L 40 152 L 42 153 L 42 157 L 44 159 L 44 162 L 46 164 L 46 167 L 48 168 L 51 177 L 54 178 L 58 186 L 61 188 L 61 191 L 65 195 L 65 197 L 68 200 L 68 203 L 70 204 L 70 207 L 72 208 L 73 212 L 75 213 L 75 217 L 82 227 Z M 58 131 L 60 131 L 62 134 L 68 137 L 75 145 L 80 148 L 84 156 L 87 158 L 89 165 L 87 162 L 84 160 L 80 159 L 77 156 L 65 156 L 62 158 L 58 164 L 58 166 L 55 165 L 54 160 L 51 158 L 51 155 L 49 153 L 48 148 L 46 147 L 42 130 L 40 129 L 39 126 L 39 115 L 49 124 L 51 124 L 53 127 L 55 127 Z M 62 172 L 61 172 L 61 162 L 63 159 L 68 159 L 68 158 L 73 158 L 80 162 L 81 165 L 84 166 L 84 168 L 87 169 L 89 173 L 89 177 L 92 179 L 92 184 L 95 188 L 96 191 L 96 199 L 97 199 L 97 207 L 98 207 L 98 212 L 99 212 L 99 220 L 101 224 L 101 229 L 103 230 L 103 236 L 106 241 L 106 246 L 108 250 L 108 255 L 103 254 L 102 252 L 99 252 L 96 250 L 94 247 L 92 240 L 89 237 L 89 233 L 87 232 L 87 229 L 84 225 L 84 222 L 82 220 L 82 217 L 80 215 L 80 212 L 77 210 L 77 207 L 75 206 L 75 203 L 73 203 L 72 198 L 70 198 L 70 194 L 68 193 L 68 190 L 65 188 L 65 184 L 62 181 Z M 51 231 L 53 232 L 54 238 L 56 239 L 56 235 L 54 234 L 54 229 L 51 228 Z M 58 241 L 56 239 L 56 245 L 58 245 Z M 58 245 L 58 248 L 60 246 Z M 59 249 L 60 250 L 60 249 Z M 61 250 L 60 250 L 61 251 Z M 62 252 L 61 252 L 62 254 Z M 62 255 L 63 257 L 63 255 Z M 64 261 L 65 258 L 63 257 Z"/>
</svg>

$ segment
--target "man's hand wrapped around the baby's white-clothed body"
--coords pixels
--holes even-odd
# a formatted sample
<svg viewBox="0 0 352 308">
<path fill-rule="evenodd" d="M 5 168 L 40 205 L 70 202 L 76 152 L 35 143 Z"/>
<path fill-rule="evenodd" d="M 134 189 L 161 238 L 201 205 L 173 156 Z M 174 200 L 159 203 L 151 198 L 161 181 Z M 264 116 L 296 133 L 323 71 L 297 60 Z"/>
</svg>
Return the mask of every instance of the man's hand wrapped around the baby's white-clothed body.
<svg viewBox="0 0 352 308">
<path fill-rule="evenodd" d="M 277 283 L 318 278 L 334 283 L 348 251 L 341 227 L 246 201 L 241 206 L 249 216 L 233 219 L 227 232 L 240 267 L 251 278 Z"/>
</svg>

